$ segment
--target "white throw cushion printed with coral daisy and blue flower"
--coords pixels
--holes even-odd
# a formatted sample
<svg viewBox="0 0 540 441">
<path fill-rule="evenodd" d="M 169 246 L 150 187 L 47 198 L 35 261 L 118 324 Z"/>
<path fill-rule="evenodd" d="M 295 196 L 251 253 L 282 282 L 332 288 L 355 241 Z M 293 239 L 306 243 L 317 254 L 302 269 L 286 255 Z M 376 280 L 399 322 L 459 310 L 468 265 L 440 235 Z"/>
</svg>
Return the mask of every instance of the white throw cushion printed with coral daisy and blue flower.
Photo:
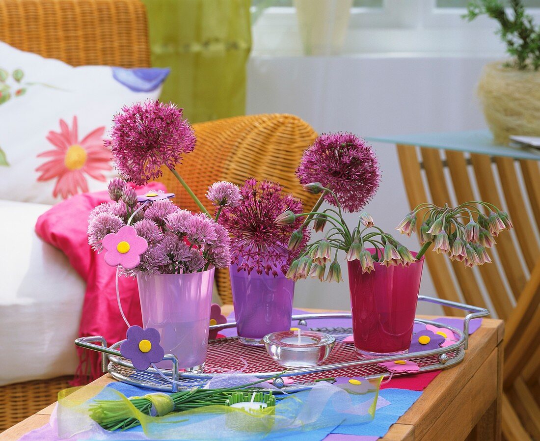
<svg viewBox="0 0 540 441">
<path fill-rule="evenodd" d="M 103 146 L 112 116 L 158 98 L 167 73 L 74 68 L 0 42 L 0 198 L 54 204 L 106 189 L 116 175 Z"/>
</svg>

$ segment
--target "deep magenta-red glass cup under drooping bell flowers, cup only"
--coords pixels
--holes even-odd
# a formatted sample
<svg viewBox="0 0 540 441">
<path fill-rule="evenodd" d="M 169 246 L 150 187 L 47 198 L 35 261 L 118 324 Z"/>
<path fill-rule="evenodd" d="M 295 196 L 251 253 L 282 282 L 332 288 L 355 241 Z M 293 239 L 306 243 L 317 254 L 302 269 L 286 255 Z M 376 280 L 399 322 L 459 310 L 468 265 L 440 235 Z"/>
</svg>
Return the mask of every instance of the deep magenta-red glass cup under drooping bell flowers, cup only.
<svg viewBox="0 0 540 441">
<path fill-rule="evenodd" d="M 362 274 L 359 260 L 348 262 L 354 346 L 360 357 L 408 352 L 423 264 L 423 257 L 407 267 L 375 262 L 375 271 Z"/>
</svg>

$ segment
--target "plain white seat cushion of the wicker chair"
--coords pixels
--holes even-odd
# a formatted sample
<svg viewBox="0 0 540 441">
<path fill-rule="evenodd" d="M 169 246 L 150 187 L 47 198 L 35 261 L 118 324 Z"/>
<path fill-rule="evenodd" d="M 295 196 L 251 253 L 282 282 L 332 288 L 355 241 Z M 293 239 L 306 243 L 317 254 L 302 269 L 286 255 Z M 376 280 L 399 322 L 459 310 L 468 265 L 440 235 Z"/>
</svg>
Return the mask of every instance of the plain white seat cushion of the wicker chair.
<svg viewBox="0 0 540 441">
<path fill-rule="evenodd" d="M 70 375 L 85 283 L 34 226 L 49 205 L 0 201 L 0 385 Z"/>
</svg>

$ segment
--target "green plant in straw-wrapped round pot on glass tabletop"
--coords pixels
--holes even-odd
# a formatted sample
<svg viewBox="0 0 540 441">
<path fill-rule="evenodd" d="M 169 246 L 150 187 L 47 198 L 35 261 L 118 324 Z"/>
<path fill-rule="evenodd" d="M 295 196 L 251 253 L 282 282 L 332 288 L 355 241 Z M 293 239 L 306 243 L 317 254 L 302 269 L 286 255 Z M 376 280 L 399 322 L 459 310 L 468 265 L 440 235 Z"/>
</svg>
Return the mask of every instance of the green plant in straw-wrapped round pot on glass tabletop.
<svg viewBox="0 0 540 441">
<path fill-rule="evenodd" d="M 510 59 L 483 69 L 478 95 L 495 142 L 508 144 L 511 135 L 540 136 L 540 28 L 521 0 L 476 0 L 464 16 L 487 15 L 500 24 L 497 34 Z"/>
</svg>

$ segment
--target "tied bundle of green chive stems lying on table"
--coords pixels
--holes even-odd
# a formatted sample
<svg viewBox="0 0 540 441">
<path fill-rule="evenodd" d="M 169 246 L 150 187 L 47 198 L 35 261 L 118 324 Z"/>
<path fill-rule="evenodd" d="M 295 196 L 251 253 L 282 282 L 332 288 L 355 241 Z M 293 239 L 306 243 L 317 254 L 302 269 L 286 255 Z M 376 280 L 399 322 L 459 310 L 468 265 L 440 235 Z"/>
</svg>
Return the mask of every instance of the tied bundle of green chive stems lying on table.
<svg viewBox="0 0 540 441">
<path fill-rule="evenodd" d="M 249 387 L 255 384 L 279 377 L 284 372 L 272 378 L 260 379 L 257 382 L 244 384 L 241 386 L 226 387 L 222 389 L 199 389 L 195 387 L 190 390 L 184 390 L 171 393 L 169 396 L 174 402 L 172 412 L 182 412 L 197 407 L 225 405 L 227 400 L 235 392 L 260 392 L 259 388 Z M 150 415 L 152 402 L 144 397 L 130 398 L 130 403 L 137 410 Z M 126 405 L 124 400 L 95 400 L 90 405 L 90 417 L 95 420 L 105 430 L 127 430 L 140 425 L 140 421 L 133 417 L 133 411 Z"/>
</svg>

